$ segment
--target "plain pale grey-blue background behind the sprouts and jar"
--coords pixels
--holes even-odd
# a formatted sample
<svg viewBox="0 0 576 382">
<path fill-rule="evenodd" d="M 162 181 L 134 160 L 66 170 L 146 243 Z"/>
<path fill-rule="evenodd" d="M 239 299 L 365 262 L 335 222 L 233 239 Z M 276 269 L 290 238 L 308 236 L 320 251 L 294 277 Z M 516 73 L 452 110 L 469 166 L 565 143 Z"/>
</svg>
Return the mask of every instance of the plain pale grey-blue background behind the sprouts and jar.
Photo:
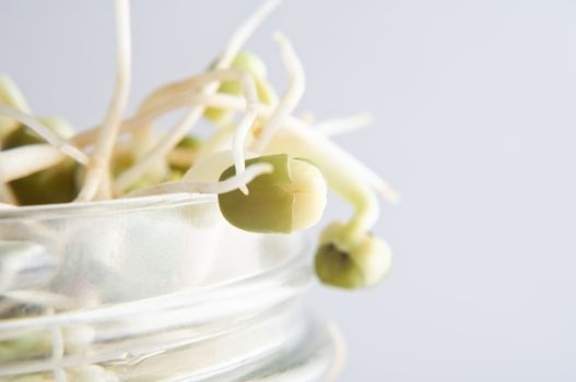
<svg viewBox="0 0 576 382">
<path fill-rule="evenodd" d="M 0 3 L 0 70 L 38 114 L 98 122 L 110 2 Z M 257 3 L 133 1 L 132 109 L 201 70 Z M 277 29 L 307 71 L 299 110 L 372 111 L 338 141 L 403 195 L 377 227 L 389 280 L 309 299 L 345 333 L 342 381 L 574 381 L 576 2 L 285 1 L 249 43 L 282 88 Z"/>
</svg>

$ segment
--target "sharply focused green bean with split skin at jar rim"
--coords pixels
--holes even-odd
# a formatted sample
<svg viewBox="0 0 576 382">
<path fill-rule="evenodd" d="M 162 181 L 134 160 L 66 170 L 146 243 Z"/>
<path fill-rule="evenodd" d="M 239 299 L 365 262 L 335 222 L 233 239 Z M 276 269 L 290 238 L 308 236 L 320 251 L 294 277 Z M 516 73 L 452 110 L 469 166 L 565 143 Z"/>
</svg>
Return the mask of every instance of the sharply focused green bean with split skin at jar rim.
<svg viewBox="0 0 576 382">
<path fill-rule="evenodd" d="M 273 172 L 248 183 L 248 194 L 234 190 L 219 195 L 220 210 L 237 228 L 252 232 L 290 234 L 315 225 L 326 206 L 327 187 L 320 170 L 305 159 L 285 154 L 246 160 L 246 166 L 268 163 Z M 220 180 L 236 174 L 228 167 Z"/>
</svg>

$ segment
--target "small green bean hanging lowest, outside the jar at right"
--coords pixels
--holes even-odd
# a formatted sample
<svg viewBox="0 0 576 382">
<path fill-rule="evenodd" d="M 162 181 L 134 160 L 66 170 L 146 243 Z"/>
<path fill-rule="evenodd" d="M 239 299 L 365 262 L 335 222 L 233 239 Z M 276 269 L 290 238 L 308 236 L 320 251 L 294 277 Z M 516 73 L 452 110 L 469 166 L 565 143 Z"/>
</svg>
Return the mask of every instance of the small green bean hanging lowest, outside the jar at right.
<svg viewBox="0 0 576 382">
<path fill-rule="evenodd" d="M 346 288 L 364 288 L 380 283 L 390 268 L 391 251 L 381 239 L 369 234 L 349 235 L 342 223 L 328 226 L 316 252 L 316 274 L 325 284 Z"/>
</svg>

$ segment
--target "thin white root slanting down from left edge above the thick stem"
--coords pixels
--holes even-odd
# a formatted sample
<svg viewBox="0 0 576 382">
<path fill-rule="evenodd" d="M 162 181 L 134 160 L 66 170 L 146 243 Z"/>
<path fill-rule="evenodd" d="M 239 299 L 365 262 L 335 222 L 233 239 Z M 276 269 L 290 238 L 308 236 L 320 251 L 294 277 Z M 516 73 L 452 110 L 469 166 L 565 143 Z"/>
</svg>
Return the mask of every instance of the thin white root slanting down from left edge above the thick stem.
<svg viewBox="0 0 576 382">
<path fill-rule="evenodd" d="M 0 105 L 0 115 L 8 116 L 17 120 L 25 127 L 33 130 L 40 138 L 45 139 L 46 142 L 48 142 L 50 145 L 55 146 L 63 154 L 81 163 L 82 165 L 86 165 L 89 163 L 89 157 L 84 153 L 82 153 L 78 147 L 74 147 L 72 144 L 66 142 L 63 139 L 58 136 L 58 134 L 54 133 L 50 129 L 45 127 L 33 116 L 20 111 L 8 105 Z"/>
</svg>

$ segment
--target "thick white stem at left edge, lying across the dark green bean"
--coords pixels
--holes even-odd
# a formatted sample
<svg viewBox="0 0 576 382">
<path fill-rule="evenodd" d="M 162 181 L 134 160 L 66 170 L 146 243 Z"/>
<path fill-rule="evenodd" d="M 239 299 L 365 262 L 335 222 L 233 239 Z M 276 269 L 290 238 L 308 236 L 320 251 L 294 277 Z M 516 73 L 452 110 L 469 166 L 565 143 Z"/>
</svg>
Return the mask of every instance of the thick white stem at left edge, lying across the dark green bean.
<svg viewBox="0 0 576 382">
<path fill-rule="evenodd" d="M 27 177 L 59 164 L 66 156 L 49 144 L 28 144 L 0 152 L 0 182 Z"/>
</svg>

